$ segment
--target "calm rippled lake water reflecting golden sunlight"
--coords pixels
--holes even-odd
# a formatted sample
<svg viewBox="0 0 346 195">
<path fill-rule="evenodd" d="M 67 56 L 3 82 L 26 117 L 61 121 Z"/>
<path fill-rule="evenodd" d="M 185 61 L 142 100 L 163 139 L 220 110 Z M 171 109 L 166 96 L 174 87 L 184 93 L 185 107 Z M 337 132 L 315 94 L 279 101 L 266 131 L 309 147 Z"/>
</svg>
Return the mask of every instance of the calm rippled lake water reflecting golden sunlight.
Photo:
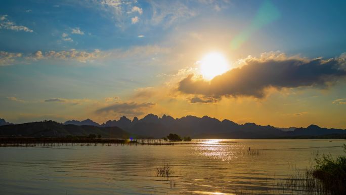
<svg viewBox="0 0 346 195">
<path fill-rule="evenodd" d="M 0 147 L 0 194 L 277 194 L 273 184 L 343 154 L 346 140 Z M 249 152 L 251 147 L 251 152 Z M 174 173 L 157 176 L 168 163 Z"/>
</svg>

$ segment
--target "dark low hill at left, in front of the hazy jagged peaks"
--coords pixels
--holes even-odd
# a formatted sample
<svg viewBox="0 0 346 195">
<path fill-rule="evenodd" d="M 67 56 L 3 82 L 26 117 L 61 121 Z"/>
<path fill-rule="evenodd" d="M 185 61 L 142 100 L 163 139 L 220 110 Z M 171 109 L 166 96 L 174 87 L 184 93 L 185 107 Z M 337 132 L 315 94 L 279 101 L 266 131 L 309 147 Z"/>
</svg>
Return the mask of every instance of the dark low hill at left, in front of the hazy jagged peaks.
<svg viewBox="0 0 346 195">
<path fill-rule="evenodd" d="M 101 134 L 103 138 L 119 139 L 134 136 L 118 127 L 63 125 L 54 121 L 24 123 L 0 127 L 0 136 L 65 137 L 66 135 L 87 136 L 89 134 Z"/>
</svg>

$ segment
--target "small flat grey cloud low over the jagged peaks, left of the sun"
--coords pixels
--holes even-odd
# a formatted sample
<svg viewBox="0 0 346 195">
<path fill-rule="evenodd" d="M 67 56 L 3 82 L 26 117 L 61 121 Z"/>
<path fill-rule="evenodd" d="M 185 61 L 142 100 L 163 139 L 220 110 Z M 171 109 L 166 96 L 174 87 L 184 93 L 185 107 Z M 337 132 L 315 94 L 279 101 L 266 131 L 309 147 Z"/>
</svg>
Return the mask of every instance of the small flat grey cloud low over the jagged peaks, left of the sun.
<svg viewBox="0 0 346 195">
<path fill-rule="evenodd" d="M 95 112 L 100 113 L 121 113 L 128 115 L 141 115 L 144 113 L 144 110 L 151 108 L 155 105 L 152 102 L 136 103 L 136 102 L 117 102 L 112 105 L 105 106 L 96 110 Z"/>
</svg>

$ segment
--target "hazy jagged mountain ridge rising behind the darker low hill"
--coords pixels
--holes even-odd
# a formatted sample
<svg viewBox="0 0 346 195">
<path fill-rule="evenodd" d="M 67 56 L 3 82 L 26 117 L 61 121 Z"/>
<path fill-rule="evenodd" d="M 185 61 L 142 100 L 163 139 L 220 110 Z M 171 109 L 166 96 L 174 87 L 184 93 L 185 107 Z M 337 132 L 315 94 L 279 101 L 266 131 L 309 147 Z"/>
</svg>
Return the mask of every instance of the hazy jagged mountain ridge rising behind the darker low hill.
<svg viewBox="0 0 346 195">
<path fill-rule="evenodd" d="M 79 123 L 81 124 L 82 122 Z M 75 124 L 77 125 L 78 123 Z M 98 125 L 99 124 L 95 126 Z M 311 125 L 308 128 L 280 129 L 270 125 L 261 126 L 254 123 L 245 123 L 240 125 L 229 120 L 220 121 L 215 118 L 210 118 L 209 116 L 199 118 L 197 116 L 188 115 L 180 119 L 174 119 L 165 114 L 162 116 L 162 118 L 159 118 L 154 114 L 148 114 L 144 116 L 143 119 L 139 120 L 136 117 L 133 121 L 127 119 L 126 116 L 122 116 L 118 121 L 107 121 L 106 123 L 100 125 L 100 127 L 115 126 L 120 127 L 121 129 L 124 129 L 132 134 L 154 138 L 162 138 L 169 133 L 176 133 L 181 136 L 191 136 L 193 139 L 261 139 L 346 134 L 346 130 L 326 129 L 315 125 Z"/>
</svg>

